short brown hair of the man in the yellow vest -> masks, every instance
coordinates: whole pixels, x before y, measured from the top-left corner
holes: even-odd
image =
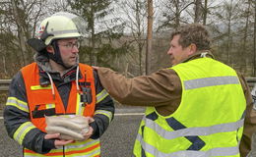
[[[209,32],[200,24],[189,24],[180,26],[177,30],[171,33],[171,40],[175,35],[180,35],[179,44],[182,48],[194,43],[197,46],[197,50],[210,50],[210,38]]]

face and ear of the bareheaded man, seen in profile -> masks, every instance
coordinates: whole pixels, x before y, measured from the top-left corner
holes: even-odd
[[[178,40],[180,35],[174,35],[170,41],[170,47],[167,54],[170,56],[170,63],[172,66],[179,64],[182,60],[188,58],[190,54],[190,46],[182,48]]]

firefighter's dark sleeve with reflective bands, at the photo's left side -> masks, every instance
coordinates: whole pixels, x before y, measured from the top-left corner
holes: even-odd
[[[24,78],[19,72],[11,81],[4,110],[4,125],[10,137],[37,153],[47,153],[54,147],[54,140],[45,140],[45,133],[36,129],[30,119]]]

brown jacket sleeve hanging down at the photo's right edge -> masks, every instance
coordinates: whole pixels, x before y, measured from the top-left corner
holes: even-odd
[[[250,88],[246,83],[245,78],[243,78],[239,73],[237,73],[240,82],[242,84],[243,92],[246,98],[246,113],[244,119],[244,129],[239,145],[241,157],[246,157],[246,155],[251,150],[252,144],[252,134],[256,132],[256,108],[253,108],[252,97]]]

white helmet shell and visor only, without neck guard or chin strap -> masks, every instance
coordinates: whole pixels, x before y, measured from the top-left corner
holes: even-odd
[[[59,12],[41,22],[36,36],[42,39],[45,45],[49,45],[54,39],[84,36],[85,25],[82,18],[71,13]]]

